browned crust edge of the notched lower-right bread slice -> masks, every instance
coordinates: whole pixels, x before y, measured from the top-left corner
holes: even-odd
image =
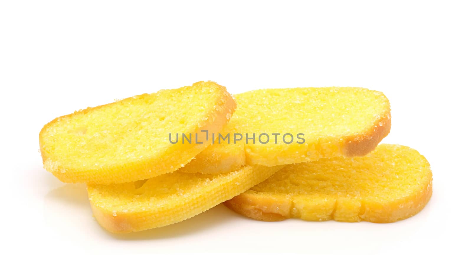
[[[379,145],[380,149],[387,146],[392,145]],[[404,146],[402,146],[401,149],[404,149],[404,151],[413,150]],[[418,178],[421,178],[422,181],[418,183],[419,187],[415,187],[413,190],[405,189],[405,193],[401,197],[379,199],[377,197],[349,197],[340,194],[320,195],[319,193],[311,193],[300,195],[258,192],[250,189],[226,201],[224,204],[233,211],[246,217],[270,222],[295,217],[307,221],[396,222],[420,212],[424,206],[426,206],[432,195],[432,172],[429,163],[421,154],[416,151],[414,152],[417,154],[417,159],[412,159],[412,162],[419,161],[425,165],[419,168],[417,174]],[[373,153],[375,153],[375,151]],[[336,161],[336,159],[333,161]],[[284,170],[279,172],[284,172]],[[359,170],[357,172],[365,171]],[[398,175],[401,176],[401,174]],[[274,174],[274,176],[277,176],[277,173]],[[382,175],[379,174],[379,176]],[[408,179],[412,178],[406,178],[406,180]],[[268,180],[270,180],[270,178]],[[324,180],[327,181],[321,180],[320,184],[332,183],[329,179],[325,178]],[[375,183],[374,181],[365,182],[365,184]],[[277,182],[275,182],[275,184],[277,184]],[[337,183],[337,185],[339,185],[339,183]]]

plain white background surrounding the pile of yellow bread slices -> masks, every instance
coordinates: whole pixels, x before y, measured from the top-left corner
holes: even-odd
[[[8,257],[0,267],[467,269],[470,7],[327,2],[1,1],[1,249]],[[392,106],[384,143],[411,146],[430,161],[429,204],[390,224],[264,223],[220,205],[168,227],[113,235],[93,219],[83,185],[63,184],[42,169],[38,134],[55,117],[200,80],[234,94],[297,86],[384,92]],[[162,254],[143,256],[148,252]]]

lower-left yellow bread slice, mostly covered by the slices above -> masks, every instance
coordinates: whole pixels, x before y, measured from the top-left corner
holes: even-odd
[[[282,167],[245,166],[223,175],[179,171],[149,180],[87,185],[95,219],[114,233],[177,223],[253,187]]]

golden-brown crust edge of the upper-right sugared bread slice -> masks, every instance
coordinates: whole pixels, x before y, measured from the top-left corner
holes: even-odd
[[[258,91],[247,93],[251,92]],[[377,91],[371,92],[379,93]],[[239,96],[244,96],[244,94],[236,94],[236,101],[238,101]],[[267,151],[264,150],[264,146],[260,146],[259,151],[252,151],[251,146],[243,143],[214,144],[196,155],[180,171],[218,174],[237,170],[244,165],[275,166],[310,162],[325,157],[366,155],[375,149],[377,144],[390,133],[390,105],[383,94],[380,97],[383,98],[382,103],[385,103],[385,108],[378,113],[377,119],[360,133],[338,137],[326,136],[318,139],[315,143],[308,143],[310,141],[307,141],[303,145],[292,144],[290,147],[280,147],[279,150]],[[241,111],[251,111],[251,109],[246,110],[244,104],[241,104],[238,106],[235,116]],[[233,118],[228,127],[231,125],[231,130],[239,130],[238,122],[237,118]],[[230,131],[230,133],[234,132]]]

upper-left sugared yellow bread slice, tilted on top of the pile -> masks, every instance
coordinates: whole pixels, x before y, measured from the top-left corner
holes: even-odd
[[[76,111],[42,128],[44,168],[63,182],[89,184],[132,182],[172,172],[210,145],[201,131],[218,133],[235,108],[224,86],[198,82]],[[193,141],[170,142],[182,134],[191,134]]]

